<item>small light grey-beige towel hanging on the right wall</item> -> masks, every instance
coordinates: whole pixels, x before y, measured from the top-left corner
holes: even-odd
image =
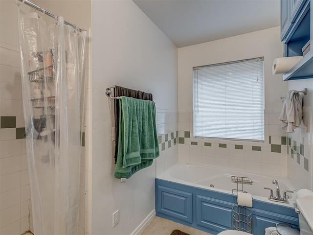
[[[285,95],[283,109],[279,116],[282,128],[287,132],[294,132],[294,129],[300,127],[302,117],[302,97],[297,91],[291,90]]]

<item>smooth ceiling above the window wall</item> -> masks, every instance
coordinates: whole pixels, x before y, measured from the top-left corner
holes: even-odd
[[[133,0],[177,46],[280,25],[280,0]]]

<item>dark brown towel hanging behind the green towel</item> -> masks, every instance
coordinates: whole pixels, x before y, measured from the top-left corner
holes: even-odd
[[[143,100],[152,100],[152,94],[151,93],[145,93],[141,91],[132,90],[125,87],[120,86],[114,86],[114,96],[127,96],[127,97],[133,97],[136,99],[143,99]],[[117,161],[117,152],[118,152],[118,133],[119,133],[119,100],[114,100],[114,106],[115,106],[115,152],[114,152],[114,159],[115,164]]]

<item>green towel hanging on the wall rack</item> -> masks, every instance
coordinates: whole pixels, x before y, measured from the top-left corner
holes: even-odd
[[[130,178],[159,156],[156,106],[151,100],[121,96],[115,178]]]

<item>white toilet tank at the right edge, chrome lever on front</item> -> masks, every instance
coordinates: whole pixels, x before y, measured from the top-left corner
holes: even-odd
[[[313,195],[296,199],[299,209],[300,235],[313,235]]]

